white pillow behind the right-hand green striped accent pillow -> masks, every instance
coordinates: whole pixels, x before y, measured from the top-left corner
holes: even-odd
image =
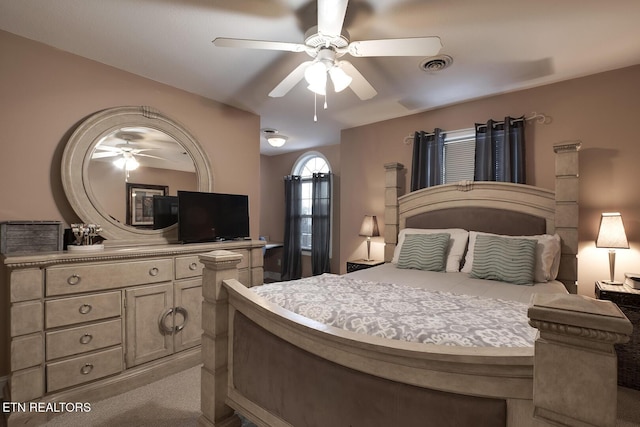
[[[482,233],[479,231],[469,232],[469,248],[464,259],[463,273],[470,273],[473,267],[473,253],[476,244],[476,236],[479,234],[497,236],[497,234]],[[557,234],[540,234],[536,236],[501,236],[512,239],[532,239],[537,240],[536,245],[536,266],[534,270],[534,280],[536,283],[554,280],[558,275],[560,263],[560,236]]]

